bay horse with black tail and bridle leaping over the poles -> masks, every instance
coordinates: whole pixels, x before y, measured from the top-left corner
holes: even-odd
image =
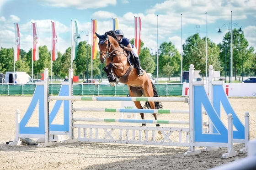
[[[96,32],[95,34],[99,38],[100,61],[101,63],[106,62],[106,67],[103,70],[112,86],[118,82],[127,84],[131,97],[141,97],[142,95],[144,97],[159,97],[155,85],[145,71],[143,71],[144,76],[138,77],[137,68],[128,61],[129,54],[120,47],[115,31],[107,31],[104,35],[99,35]],[[134,104],[138,109],[162,109],[160,102],[145,102],[144,107],[139,101],[134,102]],[[153,113],[153,115],[157,120],[157,114]],[[144,119],[144,113],[140,113],[140,116],[141,119]],[[142,125],[146,126],[146,124]],[[156,126],[160,126],[160,124],[156,124]]]

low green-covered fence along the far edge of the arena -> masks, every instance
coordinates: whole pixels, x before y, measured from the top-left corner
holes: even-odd
[[[36,84],[0,84],[0,95],[26,95],[33,94]],[[59,94],[61,84],[49,84],[49,94]],[[160,96],[182,95],[182,83],[158,83],[155,88]],[[111,85],[101,84],[74,84],[74,95],[93,95],[93,96],[119,96],[128,95],[129,89],[126,84],[112,87]]]

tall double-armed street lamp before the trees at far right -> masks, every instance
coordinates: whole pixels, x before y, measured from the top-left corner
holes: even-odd
[[[242,34],[243,31],[241,29],[241,26],[239,26],[235,23],[234,24],[232,23],[232,11],[231,11],[231,24],[229,22],[229,25],[224,24],[223,26],[225,26],[225,25],[228,26],[229,31],[231,32],[231,36],[229,38],[229,46],[230,46],[230,51],[229,51],[229,57],[230,57],[230,60],[229,60],[229,82],[230,82],[230,76],[231,76],[231,82],[233,82],[232,81],[232,77],[233,77],[233,30],[232,30],[232,26],[234,25],[234,26],[238,26],[240,28],[238,30],[239,34]],[[222,27],[219,28],[219,31],[218,31],[219,34],[222,33],[222,31],[220,30]]]

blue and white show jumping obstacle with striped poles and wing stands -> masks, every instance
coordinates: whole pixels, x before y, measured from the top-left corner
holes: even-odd
[[[36,82],[37,87],[32,98],[32,102],[27,112],[20,120],[20,113],[16,111],[16,138],[9,143],[11,146],[22,144],[20,138],[39,138],[44,143],[38,147],[52,146],[54,137],[68,135],[68,140],[62,143],[76,141],[104,142],[104,143],[127,143],[127,144],[154,144],[167,146],[187,146],[188,151],[185,156],[201,153],[201,149],[196,147],[207,147],[204,150],[212,150],[218,147],[228,148],[228,153],[223,154],[223,158],[229,158],[238,153],[233,148],[233,143],[244,143],[245,148],[240,149],[240,153],[247,152],[249,134],[249,113],[245,113],[245,126],[235,114],[229,100],[222,87],[223,82],[214,81],[213,77],[219,77],[219,72],[214,72],[209,66],[208,94],[202,81],[194,82],[194,78],[200,77],[200,71],[195,71],[193,65],[189,69],[189,100],[187,98],[145,98],[145,97],[87,97],[73,96],[72,77],[73,71],[69,70],[69,82],[62,82],[59,96],[48,96],[48,69],[44,71],[44,82]],[[217,75],[215,75],[217,74]],[[40,84],[41,83],[41,84]],[[51,113],[48,102],[57,100]],[[189,122],[170,120],[139,120],[139,119],[115,119],[115,118],[74,118],[73,112],[120,112],[120,113],[165,113],[170,114],[172,110],[158,109],[123,109],[123,108],[75,108],[73,103],[78,100],[85,101],[158,101],[158,102],[188,102]],[[38,127],[28,127],[27,123],[32,116],[38,103],[39,117]],[[59,108],[63,104],[63,124],[53,124]],[[228,114],[228,128],[220,118],[220,105]],[[202,107],[203,106],[203,107]],[[203,108],[209,118],[209,128],[203,126]],[[181,111],[183,113],[187,111]],[[83,124],[77,124],[83,122]],[[91,124],[88,124],[90,122]],[[98,124],[97,124],[98,122]],[[102,125],[100,122],[111,122],[117,125]],[[121,126],[119,124],[126,124]],[[153,127],[153,126],[132,126],[127,124],[148,123],[148,124],[189,124],[189,128],[180,127]],[[233,125],[235,131],[233,131]],[[74,129],[77,129],[77,139],[74,137]],[[76,131],[75,131],[76,132]],[[163,139],[158,140],[155,132],[162,134]],[[100,137],[99,134],[105,134]],[[172,136],[173,134],[176,136]],[[174,137],[174,138],[173,138]],[[176,138],[176,139],[175,139]],[[178,138],[178,139],[177,139]],[[57,141],[55,139],[55,141]]]

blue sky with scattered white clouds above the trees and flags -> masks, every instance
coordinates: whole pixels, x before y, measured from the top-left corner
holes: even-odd
[[[241,27],[249,46],[256,49],[256,0],[0,0],[0,43],[2,48],[14,46],[18,23],[20,48],[28,52],[32,22],[37,22],[39,46],[51,50],[51,21],[56,21],[57,49],[64,53],[71,46],[72,20],[77,21],[80,41],[91,44],[91,20],[97,20],[97,33],[104,34],[117,18],[124,36],[132,39],[134,16],[141,18],[141,40],[153,53],[170,41],[181,52],[181,44],[197,32],[218,44],[231,21],[232,29]]]

